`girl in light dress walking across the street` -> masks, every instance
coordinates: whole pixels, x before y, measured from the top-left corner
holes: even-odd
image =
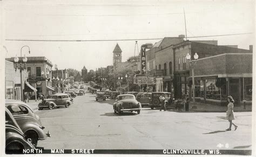
[[[234,112],[233,112],[234,99],[233,99],[232,96],[228,96],[227,97],[227,101],[228,101],[228,105],[227,105],[227,120],[228,120],[228,122],[230,122],[230,127],[228,129],[226,129],[226,131],[231,131],[232,124],[234,125],[235,130],[237,130],[238,126],[235,125],[234,123],[232,123],[232,120],[235,119]]]

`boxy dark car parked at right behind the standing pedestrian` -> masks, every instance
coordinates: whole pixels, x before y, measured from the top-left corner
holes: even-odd
[[[151,109],[158,108],[161,106],[159,99],[160,95],[163,95],[165,97],[165,100],[169,102],[167,103],[167,105],[169,105],[170,102],[172,101],[171,92],[152,92],[152,101],[149,104]]]

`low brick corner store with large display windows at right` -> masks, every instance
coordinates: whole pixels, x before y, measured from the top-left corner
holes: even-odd
[[[199,59],[194,74],[197,102],[227,105],[227,96],[232,96],[234,105],[252,104],[252,54],[221,54]],[[191,86],[190,76],[190,93]]]

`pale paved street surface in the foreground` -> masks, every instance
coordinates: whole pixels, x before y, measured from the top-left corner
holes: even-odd
[[[252,149],[252,112],[235,112],[238,130],[225,131],[225,113],[185,113],[143,108],[140,115],[113,113],[114,100],[95,100],[89,93],[69,108],[39,110],[51,138],[39,147],[93,149]],[[223,144],[221,148],[218,144]],[[228,144],[226,148],[225,144]]]

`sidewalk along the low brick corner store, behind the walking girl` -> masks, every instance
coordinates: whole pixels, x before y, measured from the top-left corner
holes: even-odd
[[[192,106],[197,106],[197,109],[192,109]],[[252,111],[252,105],[246,105],[246,109],[244,109],[244,105],[234,106],[234,112],[250,112]],[[192,103],[189,104],[189,110],[195,112],[226,112],[227,106],[219,106],[219,105],[210,105],[210,104],[202,104],[202,103]]]

